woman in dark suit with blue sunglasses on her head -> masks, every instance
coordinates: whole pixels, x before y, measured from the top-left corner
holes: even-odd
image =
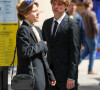
[[[49,69],[45,52],[47,45],[42,40],[42,33],[39,27],[34,26],[39,21],[38,3],[32,0],[23,1],[17,5],[18,19],[23,23],[17,32],[17,74],[30,74],[29,64],[32,60],[35,87],[34,90],[48,90],[49,83],[55,86],[56,81],[52,71]],[[37,40],[35,32],[40,40]]]

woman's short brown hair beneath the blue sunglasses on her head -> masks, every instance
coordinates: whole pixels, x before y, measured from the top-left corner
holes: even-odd
[[[29,14],[32,11],[33,5],[36,5],[37,7],[39,6],[39,4],[37,2],[31,2],[29,5],[26,4],[26,1],[23,1],[20,4],[17,4],[16,8],[17,8],[17,16],[19,20],[24,20],[25,17],[24,15]]]

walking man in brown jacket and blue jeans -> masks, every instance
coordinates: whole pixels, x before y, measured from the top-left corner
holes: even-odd
[[[96,74],[93,71],[93,64],[96,57],[96,46],[97,46],[97,18],[95,12],[92,11],[93,2],[92,0],[84,0],[85,10],[82,13],[82,18],[85,26],[85,38],[86,43],[84,52],[81,55],[80,62],[90,54],[88,74]]]

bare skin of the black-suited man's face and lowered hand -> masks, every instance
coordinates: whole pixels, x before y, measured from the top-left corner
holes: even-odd
[[[56,18],[56,20],[59,19],[61,16],[63,16],[66,8],[67,7],[63,2],[59,2],[59,1],[52,2],[52,11],[54,13],[54,17]],[[74,87],[75,87],[75,80],[67,79],[66,88],[70,90]]]

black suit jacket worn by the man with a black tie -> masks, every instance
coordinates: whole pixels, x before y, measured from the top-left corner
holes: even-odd
[[[42,28],[43,39],[47,41],[48,62],[56,80],[76,80],[78,76],[78,61],[80,58],[80,28],[75,20],[65,15],[60,23],[54,43],[51,38],[53,18],[47,19]]]

